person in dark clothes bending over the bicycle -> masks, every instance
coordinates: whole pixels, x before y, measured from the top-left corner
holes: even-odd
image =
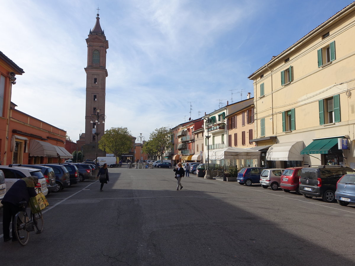
[[[4,234],[4,242],[17,241],[15,235],[14,218],[17,212],[22,209],[17,206],[20,201],[26,201],[28,204],[29,198],[37,195],[35,191],[35,185],[38,183],[38,177],[29,176],[18,179],[9,190],[7,190],[1,203],[4,205],[2,215],[2,232]],[[10,237],[10,223],[12,220],[12,237]]]

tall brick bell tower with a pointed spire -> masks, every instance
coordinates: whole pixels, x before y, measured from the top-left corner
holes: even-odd
[[[100,26],[99,14],[96,16],[96,23],[86,39],[88,56],[86,72],[86,110],[85,110],[85,144],[83,145],[83,153],[85,159],[95,158],[96,141],[99,141],[105,132],[105,124],[100,121],[91,123],[90,115],[97,113],[105,113],[105,89],[106,77],[108,76],[106,69],[106,50],[109,48],[108,40]],[[95,135],[99,132],[99,135]],[[96,138],[98,138],[96,140]],[[106,153],[100,149],[97,150],[97,156],[105,156]]]

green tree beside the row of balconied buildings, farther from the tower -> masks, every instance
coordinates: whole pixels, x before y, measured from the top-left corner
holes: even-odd
[[[149,141],[152,142],[152,146],[157,150],[157,155],[163,160],[163,154],[165,151],[173,147],[171,142],[171,131],[168,127],[161,127],[155,129],[150,137]]]

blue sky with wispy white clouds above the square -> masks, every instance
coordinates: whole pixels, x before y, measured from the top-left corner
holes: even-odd
[[[105,128],[149,138],[253,94],[247,77],[352,1],[1,0],[0,51],[23,68],[17,109],[84,132],[86,41],[99,6]],[[242,92],[242,95],[241,93]],[[222,105],[220,105],[222,102]],[[198,111],[200,111],[200,116]]]

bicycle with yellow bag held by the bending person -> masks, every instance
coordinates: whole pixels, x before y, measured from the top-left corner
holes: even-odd
[[[26,201],[20,201],[17,206],[22,208],[22,211],[17,212],[15,219],[13,220],[12,230],[15,230],[15,235],[18,242],[25,246],[29,240],[29,232],[35,231],[36,234],[40,234],[43,231],[43,215],[42,211],[38,213],[26,212]]]

